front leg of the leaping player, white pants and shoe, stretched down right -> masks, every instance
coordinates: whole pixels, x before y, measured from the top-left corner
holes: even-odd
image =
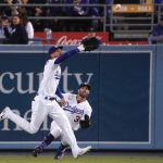
[[[51,109],[49,115],[52,117],[52,120],[55,121],[58,126],[61,128],[65,141],[68,142],[68,145],[72,148],[73,156],[77,158],[78,155],[82,155],[86,153],[88,150],[90,150],[91,147],[87,147],[84,149],[78,148],[74,131],[63,109],[55,101],[53,101],[53,105],[54,109],[53,108]]]

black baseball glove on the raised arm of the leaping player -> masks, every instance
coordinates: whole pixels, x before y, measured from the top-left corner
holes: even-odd
[[[97,39],[96,37],[92,37],[90,39],[86,39],[83,42],[84,47],[85,47],[85,51],[91,51],[91,50],[96,50],[99,48],[100,45],[100,40]]]

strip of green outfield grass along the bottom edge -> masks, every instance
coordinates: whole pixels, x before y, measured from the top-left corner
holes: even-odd
[[[60,161],[52,156],[0,156],[0,163],[163,163],[162,156],[65,156]]]

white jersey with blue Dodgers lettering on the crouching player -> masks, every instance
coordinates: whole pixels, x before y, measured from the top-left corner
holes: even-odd
[[[75,93],[63,93],[67,103],[62,106],[74,130],[79,128],[79,121],[84,120],[85,114],[90,117],[92,112],[89,102],[86,100],[77,103],[76,96]]]

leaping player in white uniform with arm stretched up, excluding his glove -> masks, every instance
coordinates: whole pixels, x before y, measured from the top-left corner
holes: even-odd
[[[32,102],[30,122],[12,112],[9,106],[1,112],[0,121],[9,118],[27,133],[35,134],[40,128],[45,117],[49,115],[62,129],[64,139],[72,148],[73,156],[78,158],[86,153],[91,147],[83,149],[78,148],[71,124],[65,116],[63,109],[54,100],[54,93],[61,78],[60,63],[65,59],[84,51],[85,48],[80,45],[79,47],[61,54],[62,48],[63,47],[51,47],[49,49],[49,54],[52,59],[48,60],[45,65],[43,77],[39,86],[38,96],[36,96]]]

